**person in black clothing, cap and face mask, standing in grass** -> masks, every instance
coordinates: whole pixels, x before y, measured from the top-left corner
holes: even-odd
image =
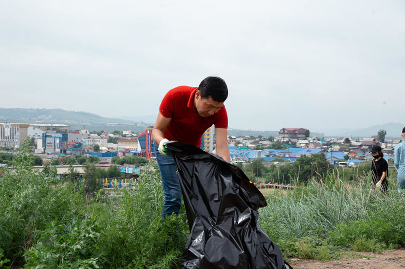
[[[384,154],[382,153],[380,146],[372,146],[370,152],[374,158],[371,162],[372,183],[378,190],[385,194],[388,188],[388,164],[382,158]]]

